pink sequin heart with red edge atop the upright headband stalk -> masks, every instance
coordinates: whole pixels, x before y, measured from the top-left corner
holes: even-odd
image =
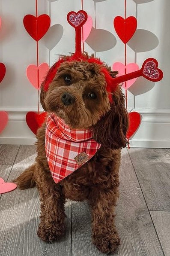
[[[69,12],[67,14],[67,20],[72,27],[79,28],[84,25],[87,20],[87,13],[83,10],[76,12]]]

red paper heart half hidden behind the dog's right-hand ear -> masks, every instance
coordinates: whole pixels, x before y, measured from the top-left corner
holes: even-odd
[[[140,125],[140,114],[137,112],[129,113],[129,128],[126,137],[129,139]]]

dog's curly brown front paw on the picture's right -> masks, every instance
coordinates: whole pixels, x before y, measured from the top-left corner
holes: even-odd
[[[93,235],[92,238],[93,244],[95,244],[102,253],[113,253],[120,245],[118,233],[114,233],[113,235]]]

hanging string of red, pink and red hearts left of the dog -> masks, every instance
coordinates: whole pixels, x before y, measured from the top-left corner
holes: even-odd
[[[27,79],[30,83],[38,90],[38,113],[28,112],[26,115],[26,122],[28,127],[34,134],[37,133],[39,127],[45,121],[47,115],[46,112],[39,113],[39,89],[41,83],[44,80],[46,73],[49,70],[47,63],[42,63],[39,65],[39,44],[38,41],[47,33],[51,19],[49,15],[42,14],[38,16],[38,1],[36,1],[36,16],[31,14],[25,15],[23,19],[24,27],[27,30],[28,34],[36,40],[36,59],[37,64],[30,64],[26,69]]]

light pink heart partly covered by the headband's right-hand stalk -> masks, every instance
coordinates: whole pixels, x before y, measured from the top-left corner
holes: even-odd
[[[123,76],[125,75],[125,67],[126,67],[126,74],[134,72],[139,70],[139,66],[136,63],[129,63],[126,66],[122,62],[115,62],[112,66],[112,70],[114,71],[119,71],[117,76]],[[133,78],[129,81],[126,82],[126,87],[125,87],[125,82],[123,83],[122,87],[124,89],[128,89],[131,87],[131,85],[134,84],[137,78]]]

